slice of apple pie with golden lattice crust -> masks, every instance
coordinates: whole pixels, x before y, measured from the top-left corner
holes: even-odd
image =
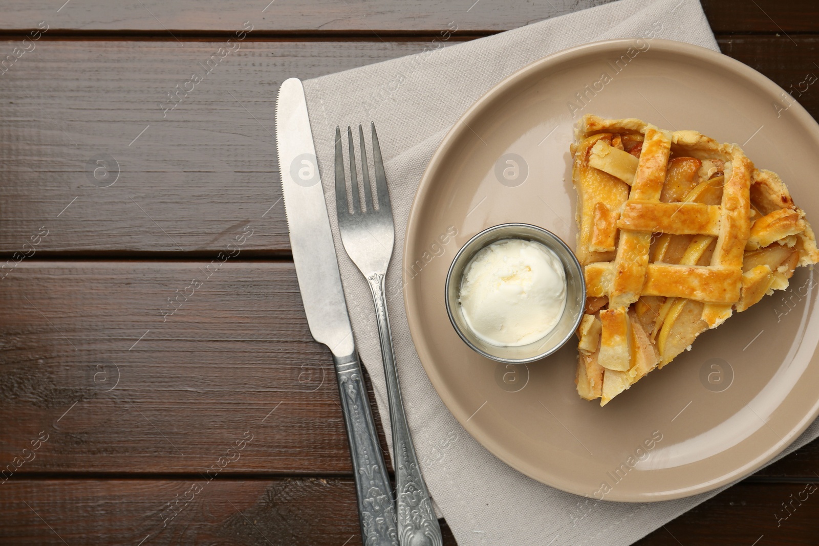
[[[571,150],[587,288],[582,398],[607,404],[819,262],[788,188],[735,144],[586,115]]]

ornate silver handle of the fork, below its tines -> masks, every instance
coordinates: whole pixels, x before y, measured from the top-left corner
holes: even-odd
[[[401,546],[441,546],[441,528],[432,509],[427,485],[423,482],[418,457],[409,435],[409,425],[404,413],[401,389],[398,383],[396,354],[392,350],[390,317],[387,314],[387,295],[384,291],[384,275],[367,277],[373,292],[375,314],[378,318],[378,336],[381,338],[381,356],[387,377],[387,397],[390,404],[392,425],[392,453],[396,467],[396,500],[398,503],[398,537]]]

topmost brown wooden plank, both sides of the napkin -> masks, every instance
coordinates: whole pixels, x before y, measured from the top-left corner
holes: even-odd
[[[260,32],[350,32],[358,34],[419,33],[444,28],[455,21],[469,32],[499,32],[611,0],[551,0],[550,2],[174,2],[144,0],[116,3],[11,0],[5,2],[0,29],[24,31],[41,20],[57,31],[153,31],[170,37],[186,31],[231,32],[251,20]],[[716,32],[807,32],[819,30],[819,10],[811,0],[704,0],[704,10]],[[59,8],[59,11],[57,11]],[[170,30],[169,30],[170,29]]]

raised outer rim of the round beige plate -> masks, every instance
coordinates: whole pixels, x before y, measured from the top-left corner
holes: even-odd
[[[450,148],[450,143],[456,138],[459,138],[461,133],[468,130],[468,124],[473,120],[473,118],[480,115],[483,109],[490,104],[495,97],[504,93],[507,88],[514,86],[519,81],[527,79],[533,74],[541,71],[546,72],[555,65],[561,65],[567,61],[572,61],[573,59],[580,60],[585,56],[611,52],[610,50],[620,51],[624,46],[632,46],[636,39],[638,38],[615,38],[584,43],[578,46],[568,47],[559,52],[554,52],[548,56],[541,57],[540,59],[523,66],[523,68],[515,71],[513,74],[510,74],[505,79],[502,79],[500,83],[495,84],[495,86],[493,86],[489,91],[473,102],[473,104],[469,106],[466,111],[464,111],[464,114],[461,115],[459,119],[455,121],[455,124],[453,124],[447,131],[436,151],[432,154],[432,158],[429,160],[426,169],[424,169],[419,186],[415,191],[412,206],[409,210],[409,217],[407,219],[404,238],[404,249],[402,250],[403,263],[408,263],[407,260],[410,258],[409,248],[414,248],[418,244],[415,234],[419,232],[419,228],[417,228],[417,226],[421,222],[419,219],[421,215],[419,201],[422,200],[423,196],[430,192],[432,187],[432,175],[441,165],[441,161],[443,160],[444,156],[446,156],[446,153]],[[749,65],[745,65],[741,61],[737,61],[730,56],[726,56],[722,52],[713,51],[707,47],[701,47],[691,43],[678,42],[663,38],[652,39],[651,47],[659,52],[686,56],[691,61],[706,62],[709,65],[716,65],[722,70],[730,71],[733,74],[737,74],[742,79],[753,82],[756,86],[758,86],[758,88],[762,88],[763,91],[767,91],[775,95],[787,95],[785,89],[781,88],[764,74],[758,72],[758,70],[754,70]],[[790,97],[790,95],[788,96]],[[810,115],[807,110],[805,110],[804,106],[799,104],[795,98],[791,97],[791,99],[792,104],[790,109],[794,109],[794,115],[796,117],[795,121],[803,125],[805,130],[812,133],[812,138],[819,142],[819,123],[817,123],[817,120],[815,120],[813,116]],[[446,388],[444,381],[442,381],[440,375],[438,375],[436,368],[429,363],[433,359],[429,351],[426,350],[426,345],[423,343],[423,341],[419,341],[423,339],[421,332],[419,332],[421,322],[420,318],[423,315],[417,311],[415,305],[412,303],[411,298],[409,297],[409,287],[412,286],[412,283],[409,282],[406,268],[402,268],[401,277],[405,287],[403,291],[404,307],[407,323],[409,325],[409,334],[412,338],[415,351],[419,356],[424,372],[426,373],[430,383],[432,383],[432,386],[435,388],[437,395],[446,406],[447,410],[453,415],[453,417],[455,417],[459,424],[464,427],[464,430],[467,431],[468,434],[475,440],[477,440],[477,442],[481,444],[484,449],[492,453],[496,458],[499,458],[503,463],[509,465],[509,467],[514,468],[514,470],[521,472],[523,475],[528,476],[529,478],[532,478],[532,480],[538,481],[544,485],[548,485],[568,493],[587,496],[587,491],[585,490],[572,489],[572,487],[566,486],[565,483],[550,483],[543,481],[541,477],[533,476],[532,473],[527,472],[525,469],[526,465],[523,465],[521,462],[515,461],[514,458],[512,458],[512,453],[509,453],[509,451],[505,451],[504,449],[498,449],[498,443],[491,439],[491,435],[486,435],[480,431],[477,426],[470,425],[468,423],[468,416],[465,414],[460,415],[458,412],[453,411],[452,406],[455,405],[454,396],[451,395],[450,390]],[[814,353],[814,355],[815,354],[816,353]],[[718,478],[714,478],[699,485],[691,485],[681,493],[675,493],[672,491],[659,493],[651,492],[644,495],[613,494],[607,496],[606,500],[625,503],[659,502],[663,500],[684,499],[695,494],[702,494],[708,491],[717,490],[723,485],[730,484],[731,482],[737,481],[744,476],[753,474],[753,472],[756,472],[760,467],[763,467],[769,463],[771,459],[776,458],[776,456],[784,451],[790,444],[792,444],[794,440],[796,440],[799,435],[801,435],[808,428],[808,426],[810,426],[811,423],[817,419],[817,417],[819,417],[819,395],[817,395],[817,400],[814,402],[811,411],[802,417],[801,420],[799,420],[799,422],[797,422],[787,434],[783,435],[779,442],[771,444],[771,446],[767,449],[760,450],[760,453],[758,453],[755,458],[752,458],[752,460],[748,463],[738,465],[738,467],[731,472],[726,472]]]

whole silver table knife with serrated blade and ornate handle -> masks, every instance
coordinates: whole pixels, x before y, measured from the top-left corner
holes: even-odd
[[[301,80],[278,88],[276,147],[296,277],[315,341],[333,353],[365,546],[398,546],[395,500],[338,272]]]

